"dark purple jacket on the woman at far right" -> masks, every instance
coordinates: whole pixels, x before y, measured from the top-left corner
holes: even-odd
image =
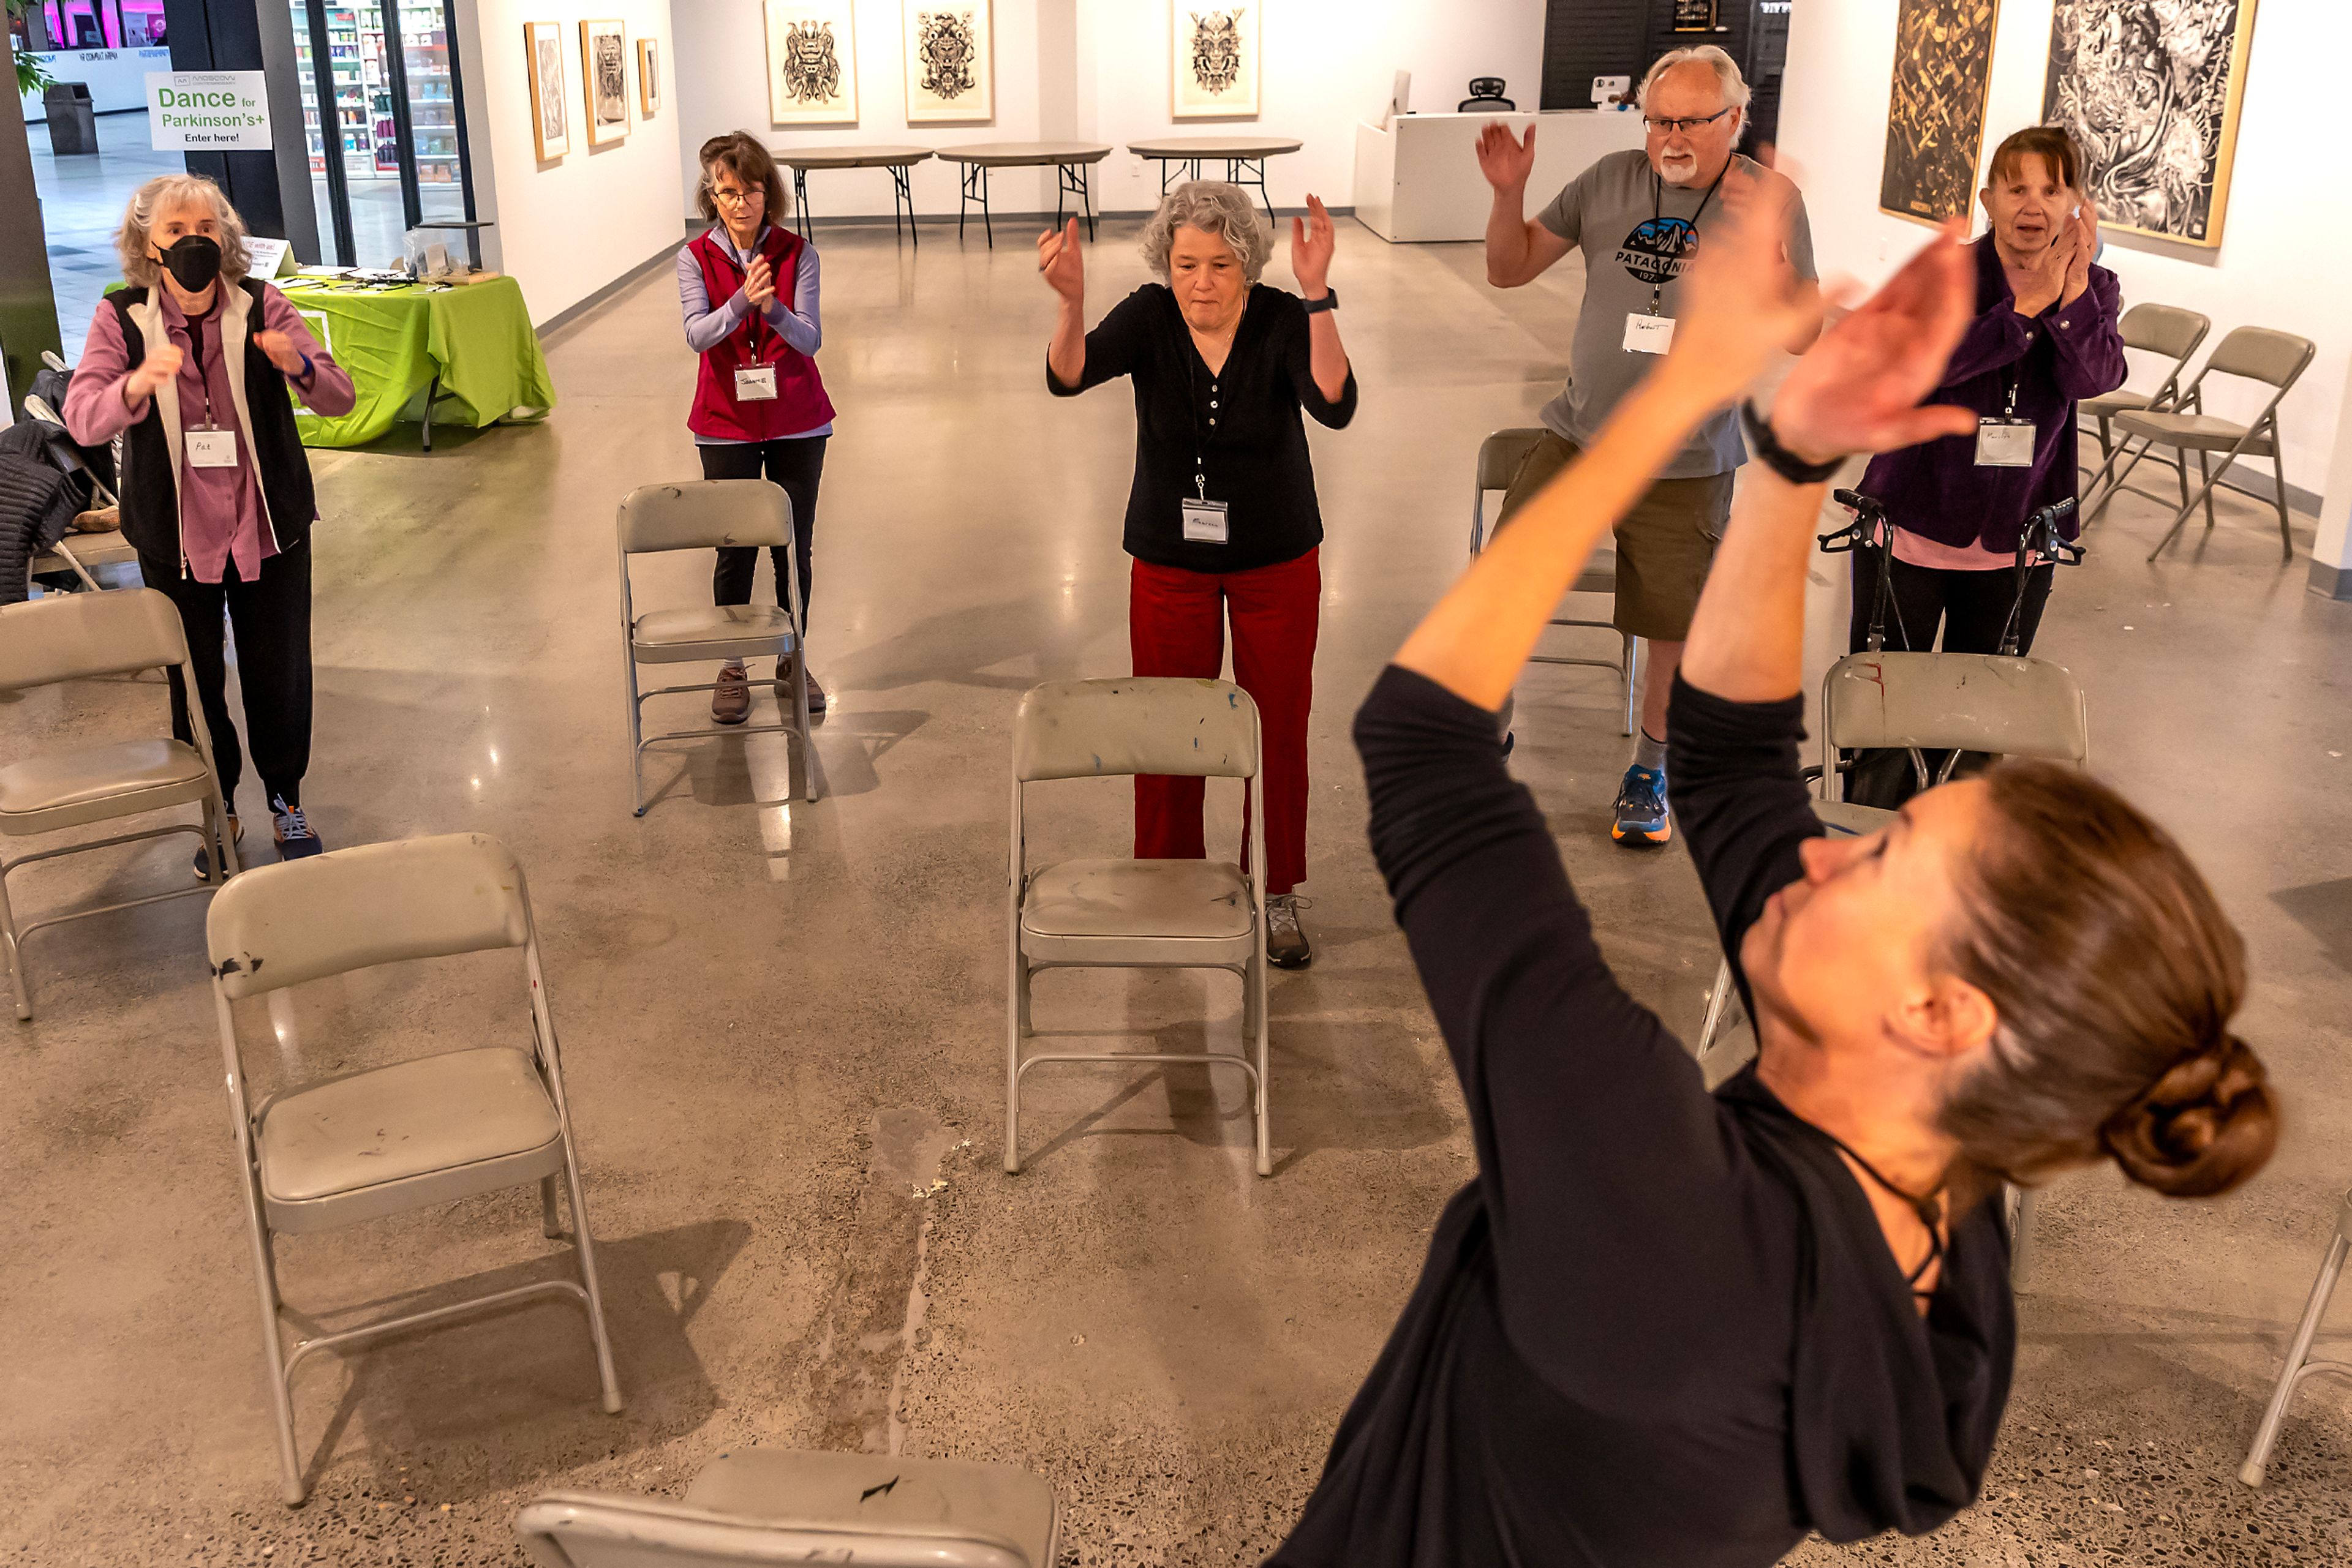
[[[1863,494],[1884,501],[1898,529],[1959,550],[1983,545],[2013,555],[2025,520],[2074,494],[2074,404],[2124,386],[2131,369],[2117,329],[2124,284],[2093,266],[2091,287],[2074,303],[2027,317],[2018,315],[1992,235],[1973,249],[1978,315],[1952,350],[1943,386],[1924,402],[2034,421],[2034,463],[1978,468],[1976,437],[1947,435],[1872,458]],[[2079,524],[2070,520],[2065,536],[2074,538]]]

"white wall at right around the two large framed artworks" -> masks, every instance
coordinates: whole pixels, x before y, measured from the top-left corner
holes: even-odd
[[[1999,9],[1985,162],[2002,136],[2042,120],[2051,9],[2051,0],[2004,0]],[[2206,350],[2244,324],[2277,327],[2319,346],[2281,409],[2286,482],[2307,494],[2326,482],[2352,364],[2352,266],[2345,263],[2352,202],[2340,200],[2326,176],[2340,158],[2328,106],[2345,92],[2347,12],[2345,0],[2260,0],[2220,247],[2110,230],[2100,259],[2122,280],[2126,308],[2157,301],[2213,317]],[[1917,223],[1879,212],[1893,38],[1893,0],[1797,0],[1790,14],[1780,155],[1804,186],[1823,273],[1844,270],[1865,282],[1884,277],[1926,237]],[[1976,214],[1980,230],[1983,209]],[[2154,376],[2140,364],[2133,386],[2150,381]],[[2251,418],[2267,395],[2234,378],[2216,378],[2211,390],[2206,407],[2232,418]],[[2256,463],[2270,468],[2263,458]],[[2157,470],[2154,482],[2161,489],[2166,475]]]

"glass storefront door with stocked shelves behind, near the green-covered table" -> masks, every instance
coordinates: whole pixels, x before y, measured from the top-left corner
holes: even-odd
[[[329,259],[341,266],[390,266],[400,261],[402,240],[416,223],[470,219],[463,94],[447,5],[289,5],[294,54],[303,71],[310,193],[318,202],[320,244]],[[452,249],[461,249],[459,235],[449,240]]]

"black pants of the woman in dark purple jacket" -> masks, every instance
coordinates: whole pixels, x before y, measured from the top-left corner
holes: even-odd
[[[1945,654],[1999,654],[2009,616],[2018,616],[2018,651],[2032,654],[2034,632],[2042,628],[2042,609],[2051,597],[2053,562],[2042,562],[2025,574],[2025,599],[2018,602],[2016,571],[1952,571],[1945,567],[1912,567],[1896,557],[1889,576],[1886,646],[1907,651],[1933,651],[1936,632],[1943,632]],[[1849,649],[1860,654],[1870,646],[1870,614],[1879,595],[1879,552],[1863,548],[1853,552],[1853,621],[1849,625]],[[1865,750],[1846,752],[1853,771],[1846,773],[1846,799],[1860,806],[1893,811],[1919,792],[1919,776],[1910,752]],[[1924,752],[1929,776],[1943,766],[1947,752]],[[1976,771],[1983,762],[1964,755],[1952,769],[1955,776]]]

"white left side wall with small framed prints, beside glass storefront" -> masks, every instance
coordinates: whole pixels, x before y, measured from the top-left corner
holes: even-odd
[[[579,24],[628,26],[628,136],[588,146]],[[541,162],[532,136],[532,82],[522,31],[555,21],[564,31],[564,94],[572,150]],[[637,40],[661,40],[661,110],[637,110]],[[548,322],[597,289],[680,242],[677,49],[670,0],[468,0],[459,45],[480,61],[468,75],[466,127],[475,148],[475,212],[494,219],[485,261],[522,284],[534,322]],[[480,87],[480,92],[475,92]],[[482,155],[489,148],[489,158]]]

